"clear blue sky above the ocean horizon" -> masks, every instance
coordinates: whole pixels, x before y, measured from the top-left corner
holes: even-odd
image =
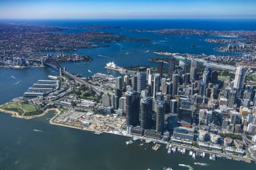
[[[256,18],[256,0],[0,0],[0,18]]]

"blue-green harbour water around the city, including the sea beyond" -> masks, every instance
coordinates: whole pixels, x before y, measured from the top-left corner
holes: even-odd
[[[3,22],[3,21],[2,21]],[[6,22],[6,21],[5,21]],[[13,21],[14,22],[14,21]],[[78,54],[86,54],[93,57],[93,61],[87,64],[84,62],[63,62],[61,65],[67,67],[70,73],[81,73],[83,76],[93,73],[106,73],[104,66],[114,61],[118,66],[150,65],[156,66],[154,62],[148,61],[151,57],[164,57],[154,54],[155,50],[168,50],[170,52],[195,53],[195,54],[220,54],[214,50],[214,44],[204,41],[205,37],[197,36],[160,36],[155,33],[127,32],[126,29],[134,28],[205,28],[206,24],[201,21],[144,21],[147,24],[135,22],[131,25],[129,21],[29,21],[28,23],[44,25],[81,25],[101,24],[118,25],[122,28],[115,28],[104,31],[121,33],[129,37],[150,38],[152,42],[112,42],[109,48],[79,49]],[[155,22],[155,23],[154,23]],[[219,29],[255,29],[254,24],[246,22],[214,22],[205,21],[209,24],[215,23],[214,28]],[[23,22],[24,23],[24,22]],[[137,25],[136,25],[137,23]],[[176,23],[176,24],[175,24]],[[210,24],[210,25],[211,25]],[[219,26],[219,27],[218,27]],[[230,28],[229,28],[230,27]],[[213,29],[213,28],[208,28]],[[69,30],[76,32],[81,30]],[[68,31],[67,31],[68,32]],[[197,44],[197,47],[191,47]],[[126,54],[130,53],[130,54]],[[221,53],[226,55],[225,53]],[[167,57],[167,56],[166,56]],[[38,69],[1,69],[0,68],[0,104],[21,96],[38,79],[46,79],[48,75],[57,75],[55,70],[45,68]],[[110,71],[114,76],[115,71]],[[12,77],[14,76],[14,78]],[[21,83],[16,83],[20,82]],[[53,113],[34,120],[20,120],[9,114],[0,114],[0,169],[186,169],[178,164],[191,165],[194,169],[255,169],[255,164],[237,162],[228,159],[217,158],[215,162],[206,159],[193,160],[191,156],[167,154],[165,147],[158,151],[151,149],[152,146],[139,146],[137,142],[127,146],[129,139],[117,135],[101,134],[94,135],[85,131],[69,129],[48,123]],[[208,163],[209,166],[196,166],[194,162]]]

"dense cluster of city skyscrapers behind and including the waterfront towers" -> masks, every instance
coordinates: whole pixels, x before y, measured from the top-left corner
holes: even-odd
[[[157,71],[138,69],[136,75],[116,78],[112,104],[118,113],[126,115],[129,133],[159,138],[165,133],[184,137],[195,126],[201,129],[242,133],[244,128],[256,133],[256,118],[251,106],[256,106],[256,86],[245,86],[245,67],[237,67],[234,80],[218,79],[218,72],[198,63],[169,58],[157,63]],[[189,72],[189,73],[188,73]],[[249,118],[250,117],[250,118]],[[250,119],[250,120],[249,120]],[[181,129],[177,129],[177,128]]]

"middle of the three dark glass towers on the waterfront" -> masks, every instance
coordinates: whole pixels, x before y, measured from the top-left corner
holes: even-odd
[[[150,129],[152,121],[152,98],[141,99],[141,128]]]

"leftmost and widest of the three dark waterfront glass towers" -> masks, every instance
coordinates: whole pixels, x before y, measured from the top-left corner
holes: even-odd
[[[126,124],[127,126],[137,126],[139,125],[139,92],[137,91],[127,91],[126,95]]]

